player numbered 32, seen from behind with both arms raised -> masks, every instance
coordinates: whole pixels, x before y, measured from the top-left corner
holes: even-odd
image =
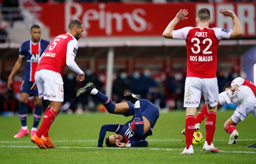
[[[187,47],[187,78],[184,94],[184,107],[187,108],[185,122],[186,147],[180,154],[194,154],[192,139],[195,131],[196,108],[199,106],[201,94],[204,96],[208,110],[203,150],[218,152],[218,149],[212,144],[219,94],[216,78],[218,45],[221,39],[232,39],[241,36],[243,33],[234,12],[222,8],[219,12],[232,18],[233,30],[209,28],[211,23],[210,11],[207,8],[202,8],[197,13],[196,23],[198,27],[184,27],[174,30],[180,20],[188,19],[186,17],[188,11],[181,9],[163,33],[165,38],[185,40]]]

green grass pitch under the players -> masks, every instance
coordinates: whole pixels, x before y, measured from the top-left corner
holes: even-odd
[[[20,128],[20,119],[0,116],[0,163],[36,164],[82,164],[82,163],[254,163],[256,148],[246,148],[256,142],[256,121],[252,114],[237,125],[239,138],[237,144],[228,145],[229,134],[223,130],[224,122],[233,111],[217,112],[217,124],[213,143],[218,153],[203,152],[203,144],[194,145],[195,154],[180,155],[185,147],[185,136],[181,130],[185,126],[185,111],[160,113],[149,136],[146,148],[97,148],[100,127],[103,124],[125,123],[131,117],[108,113],[89,113],[82,115],[60,114],[49,131],[56,149],[39,149],[30,142],[30,137],[15,139]],[[31,129],[33,116],[27,118]],[[42,121],[42,119],[41,119]],[[199,130],[205,138],[204,122]],[[107,136],[113,133],[108,132]],[[104,144],[105,146],[105,144]]]

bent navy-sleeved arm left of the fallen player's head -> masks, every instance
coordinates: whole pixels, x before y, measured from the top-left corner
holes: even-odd
[[[103,125],[100,129],[100,135],[99,135],[99,140],[98,140],[98,147],[103,147],[103,141],[106,135],[107,131],[112,131],[116,132],[118,130],[119,124],[108,124],[108,125]]]

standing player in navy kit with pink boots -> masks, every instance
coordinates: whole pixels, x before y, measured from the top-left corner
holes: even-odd
[[[14,138],[20,138],[24,135],[28,135],[28,126],[27,126],[27,115],[28,115],[28,98],[29,96],[34,96],[35,112],[34,112],[34,124],[30,131],[30,136],[34,136],[37,131],[37,126],[40,121],[43,108],[42,100],[38,98],[37,90],[30,90],[32,85],[35,82],[34,75],[36,73],[36,67],[38,65],[38,60],[49,42],[41,39],[41,29],[38,25],[33,25],[30,28],[31,39],[25,41],[20,46],[20,55],[16,61],[11,74],[8,78],[7,87],[12,89],[12,78],[20,69],[22,60],[25,58],[25,69],[23,73],[23,80],[20,87],[20,121],[21,129]]]

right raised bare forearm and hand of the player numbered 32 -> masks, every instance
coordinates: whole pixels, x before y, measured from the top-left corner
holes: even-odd
[[[232,18],[234,27],[233,27],[233,30],[230,34],[230,39],[233,39],[233,38],[236,38],[236,37],[239,37],[239,36],[243,35],[243,31],[242,31],[240,21],[238,20],[236,14],[234,12],[232,12],[230,10],[227,10],[226,8],[224,8],[224,9],[220,8],[219,12],[224,16]]]

